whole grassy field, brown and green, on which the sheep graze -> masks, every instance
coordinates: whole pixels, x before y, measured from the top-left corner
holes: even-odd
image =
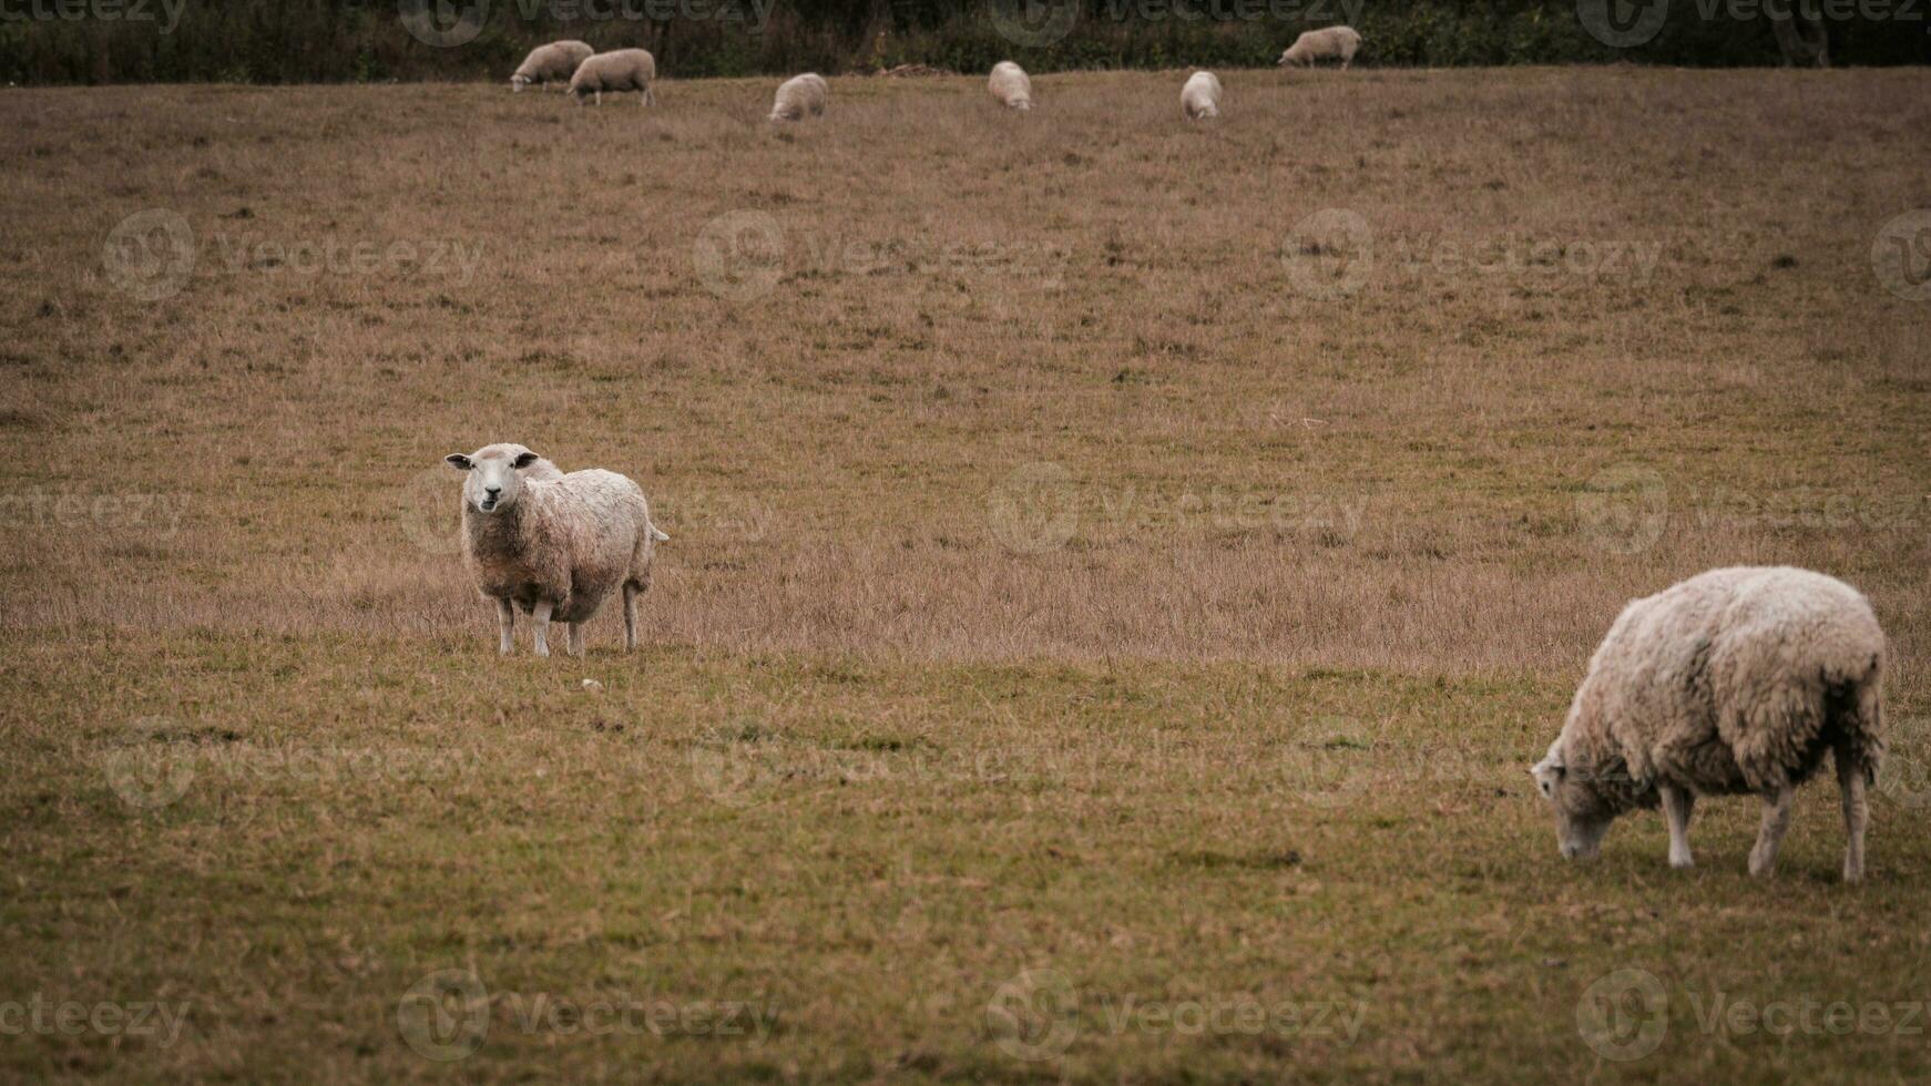
[[[1182,75],[0,95],[0,1074],[1931,1072],[1931,81]],[[643,650],[496,658],[494,440]],[[1865,885],[1556,856],[1730,563],[1892,638]]]

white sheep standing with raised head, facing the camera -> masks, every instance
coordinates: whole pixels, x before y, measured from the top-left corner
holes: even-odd
[[[463,565],[496,600],[498,652],[516,650],[516,608],[535,619],[535,652],[550,654],[550,619],[570,623],[583,656],[583,623],[622,586],[624,650],[637,648],[637,596],[651,556],[670,540],[651,523],[643,490],[602,469],[564,475],[525,446],[483,446],[444,461],[463,478]]]

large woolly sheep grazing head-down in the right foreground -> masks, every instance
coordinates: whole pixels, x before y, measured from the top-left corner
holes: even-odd
[[[1529,774],[1556,843],[1591,858],[1610,820],[1661,801],[1670,866],[1690,866],[1699,795],[1757,793],[1749,874],[1767,876],[1790,799],[1831,750],[1844,801],[1844,882],[1863,878],[1863,789],[1877,783],[1885,635],[1856,588],[1792,567],[1699,573],[1622,610],[1562,733]]]

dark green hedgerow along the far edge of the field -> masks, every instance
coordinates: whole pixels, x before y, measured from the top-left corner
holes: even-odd
[[[1593,37],[1580,12],[1599,0],[1033,0],[1066,15],[1050,44],[1000,33],[1000,6],[1025,0],[454,0],[473,35],[434,46],[411,37],[413,0],[73,0],[19,4],[0,19],[0,79],[42,83],[334,83],[496,79],[531,46],[577,37],[643,46],[670,77],[877,71],[925,64],[985,71],[1077,68],[1259,68],[1303,29],[1352,23],[1365,66],[1668,64],[1767,66],[1782,52],[1765,8],[1732,0],[1670,4],[1639,44]],[[1798,2],[1798,0],[1792,0]],[[1072,12],[1068,6],[1077,6]],[[454,14],[454,15],[452,15]],[[666,17],[668,15],[668,17]],[[1829,17],[1838,66],[1931,60],[1925,14],[1854,6]]]

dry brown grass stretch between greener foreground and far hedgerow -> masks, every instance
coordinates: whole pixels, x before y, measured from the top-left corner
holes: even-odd
[[[33,455],[4,486],[154,494],[180,530],[14,517],[6,621],[483,644],[458,563],[409,540],[454,503],[436,459],[502,438],[643,480],[670,642],[1574,665],[1632,594],[1794,561],[1863,584],[1916,656],[1931,339],[1869,251],[1931,203],[1923,75],[1230,73],[1218,125],[1180,123],[1176,87],[1047,77],[1018,118],[975,79],[848,79],[782,131],[759,81],[655,112],[8,95],[4,409]],[[156,206],[199,262],[141,303],[100,251]],[[1282,258],[1323,208],[1373,230],[1336,301]],[[693,262],[734,210],[782,230],[757,301]],[[228,264],[398,239],[479,264]],[[1537,243],[1655,266],[1456,264]],[[1016,556],[989,507],[1035,461],[1077,525]],[[1620,556],[1578,492],[1632,465],[1672,515]],[[1834,515],[1780,515],[1805,509]]]

